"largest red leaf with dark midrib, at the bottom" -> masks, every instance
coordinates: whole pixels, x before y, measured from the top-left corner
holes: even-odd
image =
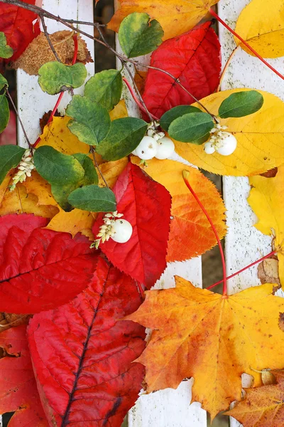
[[[35,315],[28,341],[50,426],[120,427],[141,389],[140,325],[116,320],[141,305],[136,283],[99,259],[97,279],[69,304]]]

